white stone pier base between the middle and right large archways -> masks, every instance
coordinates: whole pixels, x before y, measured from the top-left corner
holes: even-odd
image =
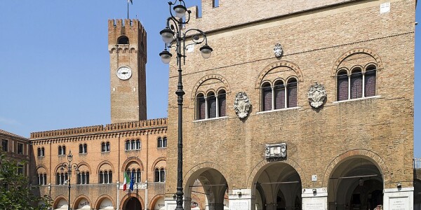
[[[302,189],[302,210],[327,210],[328,190],[326,188]]]

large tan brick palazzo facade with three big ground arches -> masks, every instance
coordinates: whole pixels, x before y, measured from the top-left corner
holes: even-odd
[[[199,179],[208,183],[214,209],[222,208],[227,195],[229,209],[394,209],[399,202],[412,208],[415,1],[220,0],[213,7],[203,0],[201,18],[194,18],[197,8],[190,9],[186,29],[206,31],[214,51],[203,59],[195,49],[182,66],[186,201]],[[274,55],[276,43],[283,47],[281,57]],[[177,69],[174,59],[170,96]],[[341,73],[350,95],[345,100],[338,95]],[[364,82],[375,89],[361,90]],[[308,99],[314,83],[327,93],[317,109]],[[277,88],[296,102],[265,110],[265,99],[277,97]],[[234,111],[239,92],[251,103],[243,119]],[[214,95],[226,98],[226,115],[202,118],[201,103],[212,112]],[[168,100],[171,195],[178,109],[176,97]],[[267,161],[266,144],[282,143],[286,158]],[[175,205],[170,197],[167,204]]]

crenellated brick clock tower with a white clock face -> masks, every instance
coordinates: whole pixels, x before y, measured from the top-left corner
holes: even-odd
[[[108,20],[111,123],[146,120],[146,31],[139,20]]]

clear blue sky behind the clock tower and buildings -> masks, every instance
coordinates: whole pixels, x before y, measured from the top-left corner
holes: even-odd
[[[130,18],[138,18],[148,33],[148,118],[167,117],[168,65],[158,55],[167,2],[133,0],[130,8]],[[187,0],[187,6],[199,3]],[[110,123],[107,20],[127,17],[126,0],[2,0],[0,5],[0,129],[29,137]],[[415,69],[421,65],[420,27]],[[420,77],[415,71],[414,142],[421,158]]]

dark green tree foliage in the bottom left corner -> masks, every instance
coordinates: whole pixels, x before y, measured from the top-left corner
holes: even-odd
[[[48,197],[33,195],[24,174],[18,174],[18,165],[24,162],[9,160],[0,153],[0,210],[48,209]],[[43,205],[37,207],[40,202]]]

